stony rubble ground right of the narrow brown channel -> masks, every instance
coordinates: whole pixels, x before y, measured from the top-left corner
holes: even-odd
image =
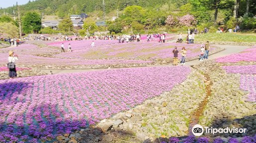
[[[247,62],[246,64],[253,63]],[[223,133],[222,137],[255,135],[256,104],[248,102],[247,92],[240,89],[240,74],[226,74],[225,70],[221,68],[223,65],[245,65],[245,62],[223,64],[207,61],[194,66],[201,72],[209,74],[213,83],[211,86],[212,95],[199,124],[215,128],[237,127],[247,129],[246,134]],[[205,135],[220,136],[220,134]]]

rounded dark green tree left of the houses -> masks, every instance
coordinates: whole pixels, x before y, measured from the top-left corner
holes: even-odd
[[[41,17],[35,12],[28,12],[22,19],[25,33],[38,33],[41,29]]]

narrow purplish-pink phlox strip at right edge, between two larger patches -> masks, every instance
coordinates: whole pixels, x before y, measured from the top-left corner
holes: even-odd
[[[228,74],[256,74],[256,65],[222,66]]]

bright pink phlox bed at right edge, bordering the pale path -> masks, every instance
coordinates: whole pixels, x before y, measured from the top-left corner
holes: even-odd
[[[255,53],[256,53],[256,46],[253,46],[253,48],[246,49],[241,53],[231,54],[229,56],[217,58],[216,61],[217,62],[231,62],[231,63],[236,63],[236,62],[240,62],[240,61],[245,61],[245,62],[256,61]]]

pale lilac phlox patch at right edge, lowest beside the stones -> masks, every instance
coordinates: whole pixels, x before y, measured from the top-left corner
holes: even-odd
[[[240,88],[249,91],[248,101],[256,103],[256,76],[255,75],[241,75]]]

